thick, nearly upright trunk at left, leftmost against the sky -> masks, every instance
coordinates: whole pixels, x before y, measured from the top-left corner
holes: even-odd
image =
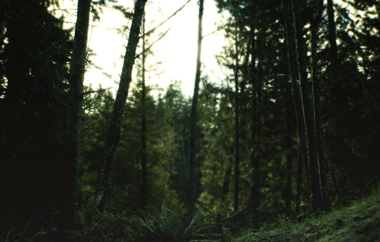
[[[64,141],[59,225],[71,228],[75,219],[78,187],[79,150],[81,140],[84,69],[87,56],[87,36],[91,0],[78,1],[73,54],[71,57],[67,127]]]

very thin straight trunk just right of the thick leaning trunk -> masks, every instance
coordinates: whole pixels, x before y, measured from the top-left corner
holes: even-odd
[[[141,71],[141,206],[145,207],[147,203],[147,170],[146,170],[146,119],[145,119],[145,16],[142,19],[142,71]]]

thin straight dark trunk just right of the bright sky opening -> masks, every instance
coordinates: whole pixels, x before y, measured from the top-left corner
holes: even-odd
[[[235,189],[234,189],[234,211],[239,209],[239,53],[237,49],[237,23],[235,23]]]

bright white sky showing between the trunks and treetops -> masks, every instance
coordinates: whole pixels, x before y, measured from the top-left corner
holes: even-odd
[[[75,22],[77,2],[77,0],[62,0],[60,8],[68,10],[65,12],[57,11],[57,14],[63,13],[67,22]],[[160,24],[184,5],[185,2],[187,0],[149,0],[146,5],[146,31]],[[126,4],[126,7],[133,8],[133,3],[133,0],[119,0],[118,4]],[[152,47],[154,56],[147,57],[147,67],[162,61],[156,72],[147,73],[147,85],[158,84],[166,89],[171,80],[181,80],[184,94],[193,94],[198,9],[197,0],[190,1],[182,11],[158,28],[156,33],[149,38],[149,41],[153,42],[160,33],[171,28],[168,34]],[[222,21],[223,18],[217,13],[214,0],[205,0],[203,35],[215,31]],[[112,87],[114,91],[117,90],[115,82],[120,80],[119,74],[123,63],[121,56],[125,54],[128,33],[126,32],[122,36],[116,29],[122,28],[122,25],[130,26],[130,24],[131,21],[128,22],[122,16],[122,13],[110,8],[103,8],[100,22],[93,23],[90,21],[90,25],[97,26],[90,26],[89,28],[88,45],[97,54],[97,56],[91,57],[91,60],[95,65],[103,68],[103,71],[96,68],[88,70],[85,75],[85,85],[92,83],[93,88],[96,89],[100,83],[103,88]],[[73,24],[68,23],[65,28],[71,26]],[[225,45],[223,31],[218,31],[203,39],[201,54],[202,75],[208,74],[211,79],[215,80],[223,78],[224,74],[222,74],[215,60],[215,55],[222,51],[223,45]],[[141,50],[137,50],[138,53],[139,51]],[[136,71],[136,68],[134,69]],[[111,79],[103,75],[102,72],[111,74]],[[160,72],[163,73],[159,76],[155,75],[155,73]],[[132,81],[135,82],[135,80],[136,74],[133,74]],[[133,88],[133,84],[131,88]]]

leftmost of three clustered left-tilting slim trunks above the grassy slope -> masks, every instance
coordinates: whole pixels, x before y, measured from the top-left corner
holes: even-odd
[[[291,80],[291,87],[293,91],[293,100],[294,100],[294,109],[296,110],[296,120],[297,120],[297,131],[298,131],[298,137],[299,137],[299,151],[300,152],[300,159],[302,160],[302,163],[304,164],[305,168],[305,174],[306,174],[306,182],[307,182],[307,190],[308,195],[310,196],[310,178],[309,178],[309,156],[307,154],[307,146],[306,146],[306,133],[305,133],[305,126],[304,126],[304,118],[303,118],[303,110],[302,110],[302,100],[299,90],[299,85],[297,83],[297,75],[298,70],[296,66],[296,47],[294,42],[294,28],[293,27],[293,21],[291,19],[291,11],[290,11],[290,0],[283,0],[283,9],[284,9],[284,15],[285,15],[285,35],[286,35],[286,41],[288,46],[288,61],[289,61],[289,72],[290,72],[290,80]]]

